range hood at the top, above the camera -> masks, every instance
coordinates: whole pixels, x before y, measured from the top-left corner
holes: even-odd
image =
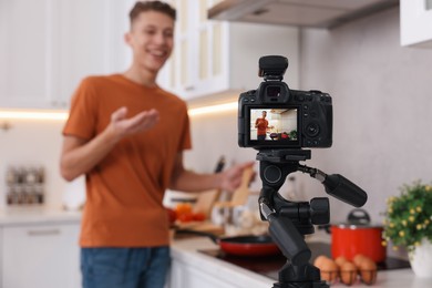
[[[399,0],[224,0],[208,18],[331,29],[397,6]]]

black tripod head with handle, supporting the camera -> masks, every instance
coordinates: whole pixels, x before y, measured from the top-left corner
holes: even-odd
[[[308,173],[319,179],[326,192],[356,207],[362,206],[367,194],[343,176],[327,175],[317,168],[300,165],[310,160],[308,150],[261,150],[257,154],[260,163],[263,188],[259,195],[259,209],[263,220],[269,222],[269,234],[287,258],[279,270],[279,281],[272,288],[327,288],[320,270],[309,263],[311,251],[304,235],[313,234],[313,224],[328,224],[329,200],[316,197],[308,202],[289,202],[278,191],[286,177],[297,171]]]

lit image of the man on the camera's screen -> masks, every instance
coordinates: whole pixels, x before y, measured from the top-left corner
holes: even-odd
[[[294,142],[297,109],[250,109],[250,141]]]

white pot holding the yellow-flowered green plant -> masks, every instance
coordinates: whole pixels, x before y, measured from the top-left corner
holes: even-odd
[[[432,244],[426,238],[422,239],[420,246],[408,253],[411,268],[415,276],[432,278]]]

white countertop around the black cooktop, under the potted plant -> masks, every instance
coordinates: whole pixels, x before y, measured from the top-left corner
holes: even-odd
[[[200,269],[208,275],[213,275],[214,277],[220,277],[223,275],[224,279],[229,279],[229,281],[233,282],[233,287],[272,287],[272,284],[275,282],[274,279],[199,253],[199,250],[217,248],[217,245],[204,237],[176,239],[172,243],[172,257],[179,259],[196,269]],[[348,286],[343,284],[332,284],[331,287]],[[374,285],[368,286],[357,282],[351,287],[425,288],[432,287],[432,278],[418,278],[410,268],[380,270],[377,275],[377,282]]]

